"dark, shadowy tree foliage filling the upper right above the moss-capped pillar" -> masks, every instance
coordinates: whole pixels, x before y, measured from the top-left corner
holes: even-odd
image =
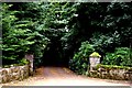
[[[75,48],[72,51],[75,52],[82,41],[89,41],[96,51],[103,54],[113,52],[118,46],[129,47],[132,35],[130,8],[131,3],[124,2],[79,3],[78,16],[72,19],[73,25],[69,24],[67,47]]]

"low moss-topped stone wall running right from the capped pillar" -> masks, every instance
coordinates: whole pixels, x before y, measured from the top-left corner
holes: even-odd
[[[89,72],[90,77],[132,81],[132,67],[98,65]]]

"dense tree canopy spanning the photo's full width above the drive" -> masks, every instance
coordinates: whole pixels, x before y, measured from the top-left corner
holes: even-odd
[[[2,3],[2,59],[33,53],[37,63],[68,65],[86,41],[103,57],[131,48],[131,25],[132,3]]]

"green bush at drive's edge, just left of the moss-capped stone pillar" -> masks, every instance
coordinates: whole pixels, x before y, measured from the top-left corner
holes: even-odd
[[[69,67],[77,74],[86,74],[88,69],[89,55],[95,51],[89,42],[82,42],[79,52],[69,62]]]

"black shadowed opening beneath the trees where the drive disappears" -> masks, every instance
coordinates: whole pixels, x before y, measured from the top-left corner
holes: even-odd
[[[67,66],[68,61],[66,62],[62,58],[63,51],[61,48],[62,43],[58,38],[53,37],[51,44],[47,45],[43,54],[43,65],[44,66]]]

